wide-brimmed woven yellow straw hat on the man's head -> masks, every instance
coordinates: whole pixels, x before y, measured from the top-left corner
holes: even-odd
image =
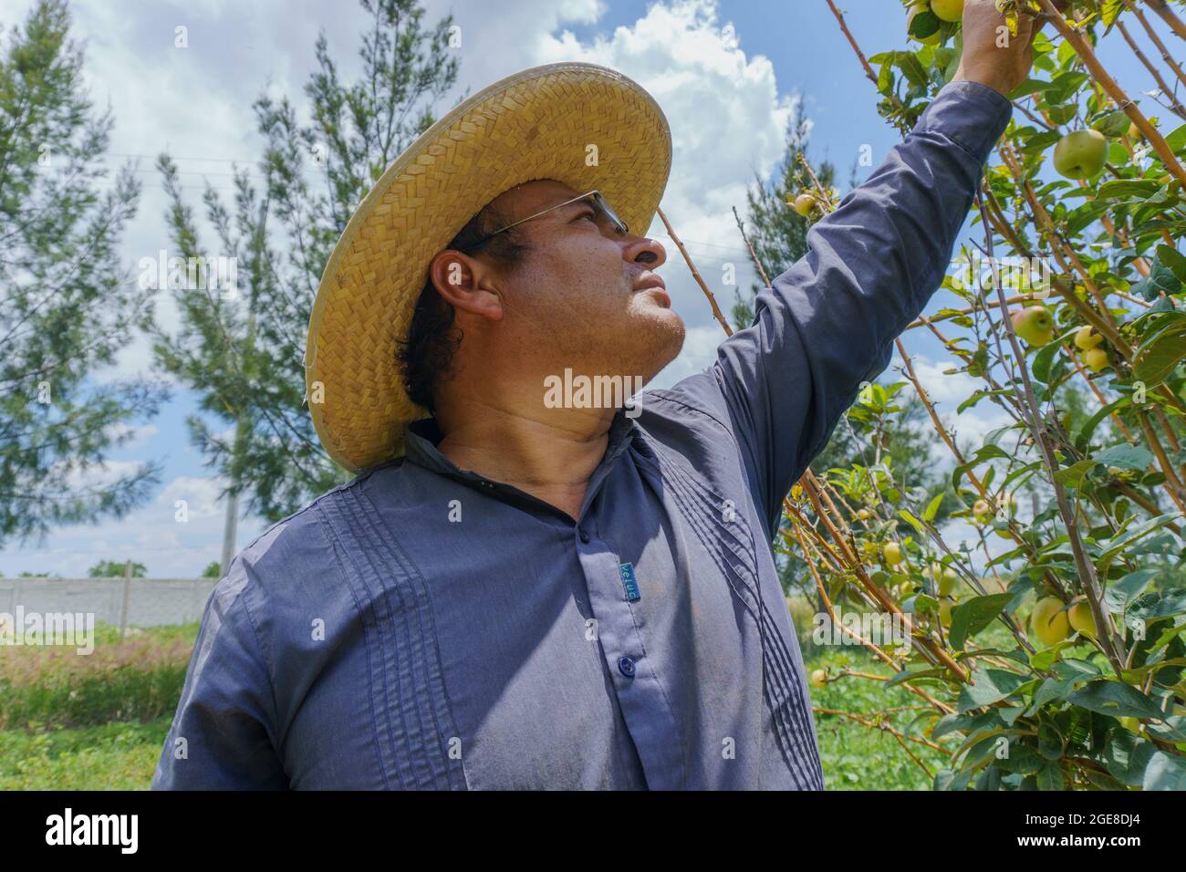
[[[604,66],[560,63],[509,76],[429,127],[383,173],[334,246],[313,301],[305,387],[321,445],[351,471],[403,453],[412,402],[397,339],[428,265],[490,201],[555,179],[600,190],[632,230],[655,217],[671,133],[655,100]]]

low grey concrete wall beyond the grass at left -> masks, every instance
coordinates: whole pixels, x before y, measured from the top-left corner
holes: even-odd
[[[94,612],[120,625],[127,587],[127,625],[159,626],[202,619],[215,578],[0,578],[0,612]]]

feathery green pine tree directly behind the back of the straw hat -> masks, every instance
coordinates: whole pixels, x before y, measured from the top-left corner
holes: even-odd
[[[176,254],[193,259],[198,288],[173,288],[181,327],[158,331],[160,365],[200,396],[206,416],[189,419],[208,465],[247,496],[247,508],[269,521],[349,480],[318,444],[305,403],[304,354],[318,281],[355,208],[383,170],[434,119],[433,107],[457,81],[452,18],[433,28],[414,0],[362,0],[374,26],[362,38],[362,71],[343,82],[324,33],[318,70],[305,87],[308,112],[287,97],[255,102],[263,153],[260,190],[235,171],[228,206],[208,185],[205,217],[218,256],[235,257],[238,287],[211,284],[193,209],[177,167],[158,166],[172,206]],[[304,125],[300,116],[312,119]],[[223,422],[212,427],[209,416]]]

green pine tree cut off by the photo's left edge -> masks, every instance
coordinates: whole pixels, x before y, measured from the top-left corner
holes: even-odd
[[[42,0],[0,47],[0,542],[122,516],[159,480],[107,459],[166,388],[88,377],[147,326],[152,293],[117,256],[140,186],[128,167],[108,178],[113,119],[69,31],[65,2]]]

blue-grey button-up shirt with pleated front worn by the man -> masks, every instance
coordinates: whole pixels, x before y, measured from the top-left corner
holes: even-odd
[[[154,789],[822,789],[771,542],[944,275],[1010,104],[948,84],[706,370],[619,410],[579,517],[406,456],[244,548]]]

